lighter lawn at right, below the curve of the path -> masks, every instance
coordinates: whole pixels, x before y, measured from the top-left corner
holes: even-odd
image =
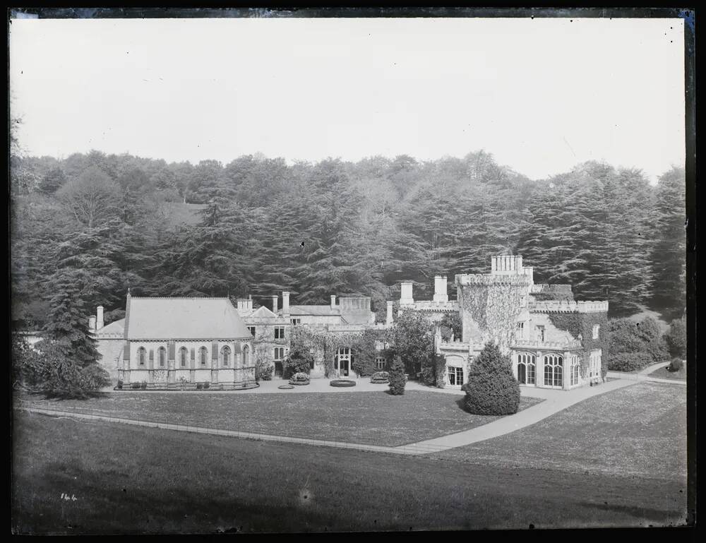
[[[537,424],[437,453],[496,467],[686,479],[686,387],[638,383],[589,398]]]

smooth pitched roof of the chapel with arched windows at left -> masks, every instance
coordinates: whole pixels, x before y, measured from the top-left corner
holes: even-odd
[[[127,340],[252,338],[228,298],[128,297]]]

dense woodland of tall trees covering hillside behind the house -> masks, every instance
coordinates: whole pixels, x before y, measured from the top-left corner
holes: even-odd
[[[384,320],[400,280],[431,298],[433,275],[486,273],[516,253],[536,282],[608,299],[611,316],[686,304],[685,178],[586,162],[532,180],[484,151],[287,165],[239,157],[168,164],[132,155],[11,156],[16,328],[51,326],[69,304],[124,314],[125,295],[292,292],[292,303],[366,294]],[[53,300],[53,301],[52,301]],[[62,302],[63,300],[63,302]]]

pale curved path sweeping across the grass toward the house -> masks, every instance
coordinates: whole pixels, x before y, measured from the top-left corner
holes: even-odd
[[[328,381],[326,381],[328,383]],[[417,384],[417,383],[415,383]],[[599,394],[604,394],[611,392],[612,390],[617,390],[618,388],[623,388],[626,386],[631,386],[637,384],[637,381],[616,379],[615,381],[608,381],[607,383],[602,383],[597,386],[587,386],[583,388],[577,388],[575,390],[551,390],[546,388],[522,388],[523,395],[531,395],[535,398],[543,398],[543,402],[539,402],[532,407],[527,407],[527,409],[517,412],[515,414],[508,415],[501,419],[496,419],[493,422],[484,424],[483,426],[477,426],[476,428],[460,431],[456,434],[449,434],[446,436],[441,436],[438,438],[427,439],[425,441],[418,441],[417,443],[409,443],[407,445],[390,447],[390,446],[376,446],[376,445],[366,445],[363,443],[346,443],[343,441],[329,441],[329,440],[318,440],[318,439],[308,439],[308,438],[295,438],[286,436],[272,436],[268,434],[255,434],[253,432],[244,431],[234,431],[234,430],[217,430],[213,428],[205,428],[202,426],[184,426],[181,424],[165,424],[161,422],[148,422],[133,419],[122,419],[119,417],[107,417],[103,415],[95,414],[83,414],[72,411],[64,410],[52,410],[44,409],[39,407],[19,407],[19,410],[32,413],[49,414],[52,416],[69,417],[73,419],[90,419],[90,420],[102,420],[106,422],[119,422],[121,424],[131,424],[134,426],[146,426],[150,428],[161,428],[176,431],[188,431],[196,432],[198,434],[212,434],[217,436],[232,436],[240,438],[250,438],[259,441],[280,441],[285,443],[305,443],[308,445],[317,446],[327,446],[327,447],[337,447],[337,448],[349,448],[357,450],[370,450],[380,453],[395,453],[395,454],[408,454],[408,455],[419,455],[425,453],[438,453],[442,450],[448,450],[450,448],[462,447],[469,445],[471,443],[477,443],[478,441],[484,441],[486,439],[491,439],[497,436],[503,436],[504,434],[509,434],[510,432],[525,428],[525,426],[530,426],[536,422],[550,417],[561,410],[566,409],[570,405],[582,402],[587,398],[596,396]],[[302,387],[303,388],[303,387]],[[334,387],[329,387],[334,388]],[[363,388],[363,387],[361,387]],[[429,389],[423,386],[414,386],[412,389]],[[256,389],[255,389],[256,390]],[[335,390],[345,390],[345,389],[335,389]],[[348,389],[350,390],[350,389]],[[375,390],[380,390],[376,388]],[[459,394],[459,390],[448,390],[448,389],[436,389],[439,392],[445,390],[448,393]],[[282,390],[282,392],[285,392]],[[289,392],[289,391],[287,391]],[[144,393],[144,392],[142,392]]]

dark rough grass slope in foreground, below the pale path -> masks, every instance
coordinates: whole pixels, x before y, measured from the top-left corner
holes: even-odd
[[[683,523],[686,509],[686,485],[676,480],[508,470],[26,412],[13,419],[12,450],[14,533],[657,526]]]

